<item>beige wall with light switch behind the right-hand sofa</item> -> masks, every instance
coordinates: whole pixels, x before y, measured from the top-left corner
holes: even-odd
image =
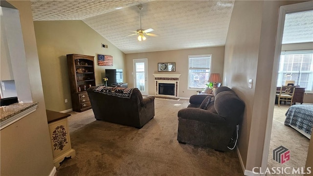
[[[235,89],[246,103],[238,143],[245,166],[255,96],[262,3],[262,1],[235,1],[225,44],[223,83]],[[252,88],[247,87],[248,79],[253,79]]]

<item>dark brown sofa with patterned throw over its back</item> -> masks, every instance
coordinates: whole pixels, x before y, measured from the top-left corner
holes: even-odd
[[[115,92],[113,92],[115,91]],[[126,91],[126,95],[125,92]],[[142,97],[138,88],[98,86],[87,89],[94,117],[140,129],[155,115],[155,97]]]

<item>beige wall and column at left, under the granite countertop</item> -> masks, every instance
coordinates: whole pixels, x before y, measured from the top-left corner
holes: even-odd
[[[0,174],[48,176],[54,167],[53,156],[30,1],[8,2],[20,11],[32,99],[39,105],[35,112],[0,131]]]

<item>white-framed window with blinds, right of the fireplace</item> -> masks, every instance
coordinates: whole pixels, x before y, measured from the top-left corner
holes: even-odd
[[[188,89],[203,89],[209,80],[212,55],[188,56]]]

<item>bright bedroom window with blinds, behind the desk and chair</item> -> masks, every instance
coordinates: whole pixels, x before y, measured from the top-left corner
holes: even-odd
[[[283,51],[280,55],[277,87],[293,80],[295,86],[313,92],[313,50]]]

